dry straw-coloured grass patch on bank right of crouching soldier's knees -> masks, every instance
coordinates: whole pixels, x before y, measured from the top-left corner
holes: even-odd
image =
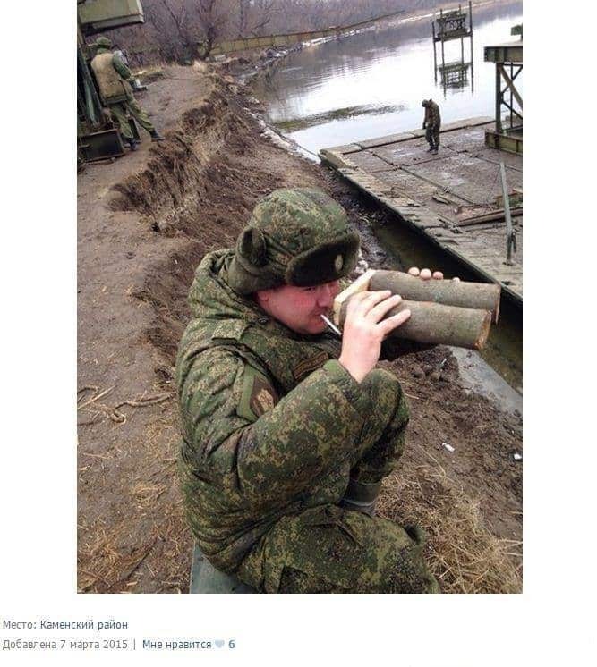
[[[522,543],[492,535],[479,502],[424,453],[430,464],[405,467],[386,479],[378,515],[424,528],[426,558],[442,592],[520,593]]]

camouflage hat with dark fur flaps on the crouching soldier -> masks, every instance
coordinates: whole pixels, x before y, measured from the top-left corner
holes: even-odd
[[[239,294],[330,283],[354,269],[359,245],[344,208],[321,190],[274,190],[236,241],[228,283]]]

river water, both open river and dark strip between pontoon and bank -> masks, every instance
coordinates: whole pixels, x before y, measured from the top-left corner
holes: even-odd
[[[510,29],[523,21],[522,3],[473,7],[472,49],[469,38],[462,45],[460,40],[444,45],[443,63],[460,63],[449,80],[435,69],[431,21],[432,14],[397,21],[287,55],[256,84],[269,121],[305,156],[318,159],[320,148],[420,128],[423,98],[439,103],[444,123],[493,117],[495,64],[483,62],[483,47],[516,39]],[[439,44],[436,54],[441,65]],[[521,72],[516,78],[521,91],[522,78]],[[373,232],[397,266],[432,266],[446,275],[476,279],[404,225],[374,225]],[[502,300],[499,325],[492,327],[482,357],[522,393],[520,308]]]

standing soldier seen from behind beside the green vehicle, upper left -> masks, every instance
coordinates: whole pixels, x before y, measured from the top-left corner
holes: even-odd
[[[95,46],[96,55],[91,61],[91,69],[95,74],[103,101],[131,150],[137,149],[137,140],[132,134],[127,113],[149,132],[152,141],[164,139],[132,95],[132,86],[129,83],[132,80],[132,72],[118,54],[112,53],[112,42],[107,37],[100,37],[96,40]]]

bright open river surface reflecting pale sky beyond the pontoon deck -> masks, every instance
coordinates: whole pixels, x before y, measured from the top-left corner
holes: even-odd
[[[463,53],[457,39],[444,44],[445,69],[436,76],[430,16],[307,46],[260,81],[257,97],[274,124],[315,154],[418,128],[421,100],[429,97],[439,102],[442,122],[492,116],[495,64],[483,62],[483,46],[513,41],[510,29],[520,22],[522,3],[473,8],[474,77],[470,42]]]

